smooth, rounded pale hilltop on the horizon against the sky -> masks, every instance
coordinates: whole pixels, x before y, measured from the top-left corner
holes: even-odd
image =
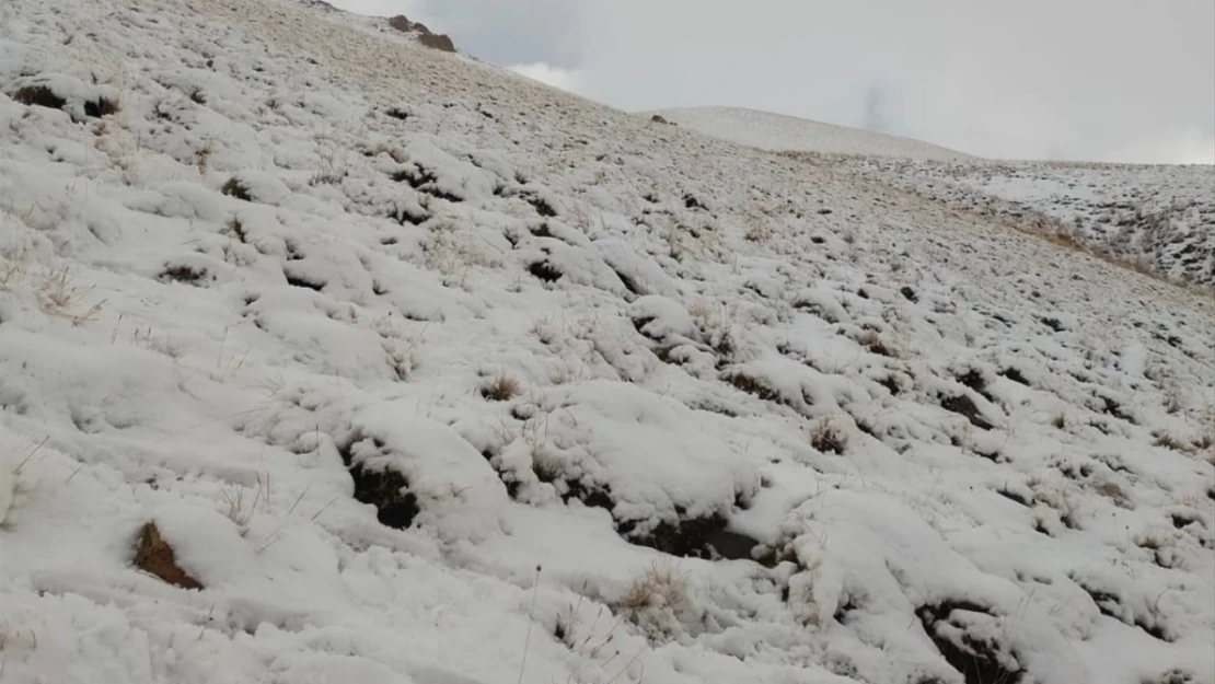
[[[940,162],[971,156],[919,140],[741,107],[686,107],[645,112],[694,131],[770,152],[860,154]]]

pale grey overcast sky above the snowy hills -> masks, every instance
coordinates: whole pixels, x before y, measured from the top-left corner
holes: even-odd
[[[627,111],[720,104],[985,157],[1215,163],[1211,0],[330,0]]]

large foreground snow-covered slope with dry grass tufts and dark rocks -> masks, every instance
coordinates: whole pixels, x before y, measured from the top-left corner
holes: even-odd
[[[0,5],[5,684],[1211,684],[1209,298],[269,0]]]

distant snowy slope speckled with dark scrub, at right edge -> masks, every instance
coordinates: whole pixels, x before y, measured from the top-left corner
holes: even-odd
[[[1179,282],[1215,287],[1215,166],[825,159]]]

